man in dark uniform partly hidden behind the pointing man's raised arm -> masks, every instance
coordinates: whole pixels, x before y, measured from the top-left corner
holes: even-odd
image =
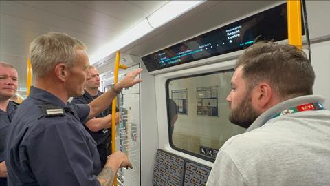
[[[75,97],[72,103],[88,104],[98,96],[103,94],[98,90],[100,87],[100,74],[94,66],[89,66],[87,71],[87,81],[85,85],[85,94]],[[119,121],[120,112],[116,110],[116,123]],[[91,118],[85,122],[85,129],[96,141],[98,145],[98,154],[100,154],[101,167],[107,162],[107,156],[111,154],[111,113],[112,104],[102,111],[96,118]]]

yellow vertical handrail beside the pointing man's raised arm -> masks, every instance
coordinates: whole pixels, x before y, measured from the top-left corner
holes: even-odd
[[[116,52],[115,54],[115,72],[114,72],[114,84],[118,83],[118,71],[119,68],[126,69],[125,65],[120,65],[120,52]],[[117,105],[117,97],[112,101],[112,116],[111,116],[111,152],[115,152],[115,107]],[[115,180],[113,182],[114,186],[117,186],[117,176],[115,176]]]

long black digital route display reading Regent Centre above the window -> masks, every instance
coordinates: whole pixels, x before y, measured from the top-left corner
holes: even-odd
[[[142,61],[148,72],[152,72],[243,50],[252,45],[256,37],[265,41],[287,39],[286,3],[144,56]]]

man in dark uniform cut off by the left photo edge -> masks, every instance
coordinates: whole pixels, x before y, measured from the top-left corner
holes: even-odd
[[[19,106],[10,101],[17,92],[19,75],[10,64],[0,61],[0,186],[7,185],[7,167],[5,166],[5,136],[8,126]]]

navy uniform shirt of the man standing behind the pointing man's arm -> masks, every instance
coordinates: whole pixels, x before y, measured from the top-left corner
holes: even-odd
[[[74,98],[72,100],[72,103],[88,104],[91,103],[91,101],[96,99],[101,94],[102,92],[98,91],[98,94],[96,96],[91,96],[91,94],[89,94],[85,90],[85,94],[83,94],[83,96]],[[116,111],[118,112],[118,110]],[[112,105],[110,105],[109,107],[107,107],[106,110],[98,114],[96,118],[102,118],[104,116],[107,116],[108,114],[112,114]],[[101,167],[103,167],[107,161],[107,156],[111,154],[111,128],[100,130],[98,132],[93,132],[89,130],[89,128],[86,126],[85,128],[98,144],[98,152],[100,154]]]

